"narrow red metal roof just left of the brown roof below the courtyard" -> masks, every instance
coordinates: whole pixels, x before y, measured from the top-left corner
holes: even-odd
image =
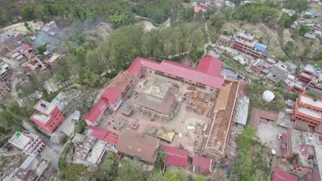
[[[88,134],[100,139],[101,141],[105,141],[107,143],[111,143],[116,145],[118,143],[118,136],[111,134],[107,130],[103,128],[99,128],[98,126],[88,126]]]

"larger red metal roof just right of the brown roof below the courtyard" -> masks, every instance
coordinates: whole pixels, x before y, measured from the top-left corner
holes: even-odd
[[[161,146],[161,149],[167,154],[164,163],[167,165],[175,165],[180,167],[186,167],[188,165],[188,152],[182,149],[169,146]]]

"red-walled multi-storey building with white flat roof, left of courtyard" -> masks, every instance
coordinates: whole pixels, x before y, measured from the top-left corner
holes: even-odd
[[[36,123],[39,128],[46,132],[54,132],[58,125],[65,120],[65,117],[54,104],[40,100],[35,106],[36,112],[30,119]]]

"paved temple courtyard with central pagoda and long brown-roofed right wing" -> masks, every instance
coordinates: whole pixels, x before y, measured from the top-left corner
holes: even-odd
[[[221,62],[217,66],[220,69]],[[98,106],[100,110],[109,109],[92,123],[116,135],[128,130],[159,138],[160,145],[184,149],[189,156],[197,153],[216,160],[224,158],[238,97],[237,80],[216,75],[222,79],[220,88],[216,88],[151,69],[140,70],[137,77],[129,71],[131,67],[111,80],[105,93],[111,85],[121,93],[113,101],[109,99],[112,105]],[[91,111],[97,114],[98,110]],[[92,117],[87,115],[87,119]]]

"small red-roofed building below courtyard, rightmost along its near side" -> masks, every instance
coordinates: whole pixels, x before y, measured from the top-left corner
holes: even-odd
[[[193,172],[210,173],[213,167],[213,160],[202,156],[193,156]]]

